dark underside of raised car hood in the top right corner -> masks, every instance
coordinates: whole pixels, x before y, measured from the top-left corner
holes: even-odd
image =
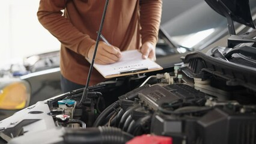
[[[255,29],[249,0],[205,0],[217,13]]]

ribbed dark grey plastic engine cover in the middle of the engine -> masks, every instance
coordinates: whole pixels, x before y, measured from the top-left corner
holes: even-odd
[[[182,103],[201,106],[206,101],[206,94],[184,84],[165,87],[154,85],[140,92],[139,99],[150,109],[157,110],[163,103],[173,103],[178,100]]]

